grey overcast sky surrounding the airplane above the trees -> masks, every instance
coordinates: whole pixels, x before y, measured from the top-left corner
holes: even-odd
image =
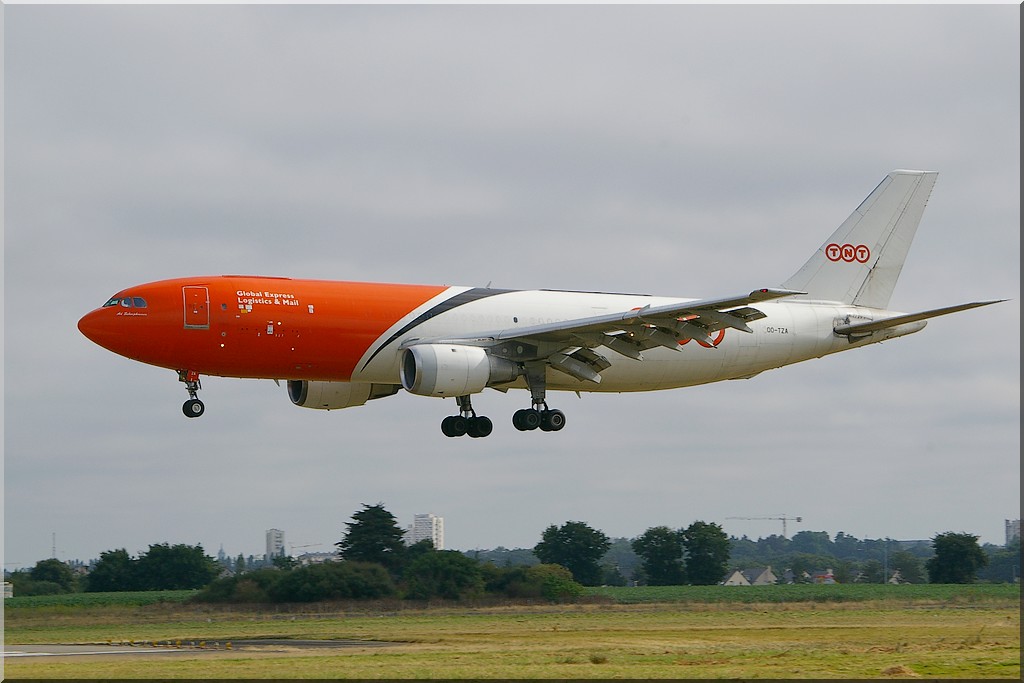
[[[996,6],[7,6],[5,567],[157,543],[333,550],[362,504],[450,548],[722,524],[865,539],[1020,515],[1019,12]],[[716,297],[776,286],[887,172],[939,171],[916,335],[647,394],[308,411],[76,324],[258,273]],[[55,536],[54,536],[55,535]]]

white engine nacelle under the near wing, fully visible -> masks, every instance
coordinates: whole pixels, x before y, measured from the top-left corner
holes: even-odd
[[[421,396],[466,396],[519,375],[514,362],[477,346],[417,344],[401,355],[401,386]]]

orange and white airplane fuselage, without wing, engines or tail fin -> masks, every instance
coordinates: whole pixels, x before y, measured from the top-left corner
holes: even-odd
[[[243,275],[187,278],[132,287],[79,323],[123,356],[201,375],[400,384],[400,347],[410,340],[471,337],[587,318],[687,299],[550,290],[393,285]],[[751,333],[717,331],[714,344],[683,339],[643,359],[612,352],[601,382],[548,371],[550,389],[650,391],[751,377],[915,332],[902,326],[851,341],[841,321],[881,313],[850,304],[773,301]],[[510,386],[525,387],[520,379]]]

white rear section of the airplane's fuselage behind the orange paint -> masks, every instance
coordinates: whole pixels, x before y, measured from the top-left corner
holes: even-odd
[[[437,299],[451,297],[468,288],[451,288]],[[645,295],[599,294],[588,292],[518,291],[499,294],[463,304],[417,325],[407,334],[390,341],[384,348],[372,346],[352,375],[353,382],[395,384],[398,382],[399,348],[406,341],[446,336],[472,337],[514,331],[517,327],[560,323],[603,315],[609,312],[685,302],[688,299]],[[423,309],[436,304],[432,300],[410,313],[392,328],[401,329]],[[864,346],[894,336],[915,332],[924,324],[905,329],[874,333],[851,342],[834,334],[838,322],[850,315],[873,319],[882,311],[834,302],[764,302],[757,308],[766,316],[750,324],[753,333],[726,329],[713,335],[717,346],[685,340],[679,350],[663,347],[647,349],[637,360],[605,347],[595,350],[611,366],[601,372],[601,382],[581,381],[549,369],[548,388],[569,391],[653,391],[739,379],[773,368],[820,357],[829,353]],[[891,313],[889,313],[891,314]],[[847,321],[848,322],[848,321]],[[382,335],[381,342],[392,332]],[[582,346],[583,344],[581,344]],[[373,358],[364,368],[366,359]],[[525,388],[520,379],[512,387]]]

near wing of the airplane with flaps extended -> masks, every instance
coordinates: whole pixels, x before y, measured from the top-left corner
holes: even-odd
[[[600,383],[600,372],[611,364],[593,348],[604,346],[642,360],[642,352],[655,346],[681,350],[681,340],[695,339],[714,347],[712,334],[715,332],[732,328],[750,333],[752,330],[746,324],[765,317],[751,304],[796,294],[804,292],[765,288],[723,299],[647,305],[604,315],[496,330],[472,337],[410,339],[401,347],[434,343],[484,346],[498,357],[522,362],[547,361],[555,370],[579,380]]]

